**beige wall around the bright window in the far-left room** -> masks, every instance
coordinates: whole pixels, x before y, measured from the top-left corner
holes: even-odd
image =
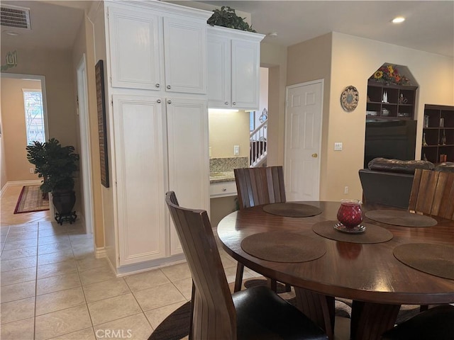
[[[22,89],[41,89],[41,81],[1,77],[2,139],[5,146],[6,182],[38,180],[27,159],[26,117]]]

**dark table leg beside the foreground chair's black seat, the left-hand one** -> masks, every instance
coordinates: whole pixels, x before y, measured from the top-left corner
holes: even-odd
[[[334,339],[334,297],[294,287],[297,307]]]

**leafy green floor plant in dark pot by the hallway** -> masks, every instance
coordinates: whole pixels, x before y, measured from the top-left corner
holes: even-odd
[[[57,210],[55,220],[74,222],[77,215],[72,208],[76,203],[74,193],[74,172],[78,170],[79,154],[74,147],[62,147],[51,138],[48,142],[32,142],[26,147],[28,162],[35,165],[35,174],[43,179],[40,189],[52,193],[52,203]]]

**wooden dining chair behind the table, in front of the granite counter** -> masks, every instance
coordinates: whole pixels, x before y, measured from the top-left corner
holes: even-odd
[[[282,166],[233,169],[233,174],[235,174],[240,209],[261,204],[285,202],[284,171]],[[233,288],[235,292],[241,290],[243,272],[244,265],[238,262],[235,288]],[[276,280],[269,280],[271,289],[276,291]],[[286,285],[285,288],[286,291],[290,291],[289,285]]]

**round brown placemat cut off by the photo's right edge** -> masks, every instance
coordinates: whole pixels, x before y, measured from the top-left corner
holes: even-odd
[[[406,266],[454,280],[454,246],[409,243],[396,246],[392,252]]]

